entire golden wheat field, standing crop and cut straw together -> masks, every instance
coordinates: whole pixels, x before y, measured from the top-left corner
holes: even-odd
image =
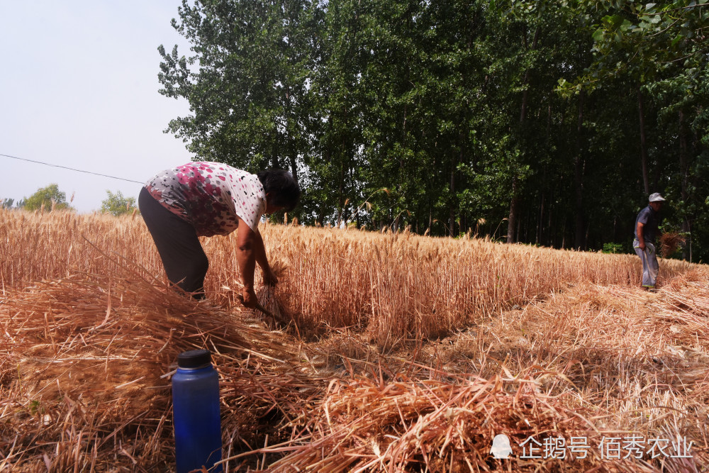
[[[709,467],[704,265],[661,260],[647,293],[634,255],[266,223],[286,327],[235,298],[235,235],[203,240],[196,303],[140,216],[0,222],[0,471],[171,471],[169,373],[193,347],[220,372],[226,471]]]

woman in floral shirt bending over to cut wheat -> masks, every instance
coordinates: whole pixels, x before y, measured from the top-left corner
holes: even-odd
[[[195,299],[204,297],[209,267],[198,237],[236,230],[244,305],[254,307],[256,263],[264,284],[278,282],[266,257],[259,220],[264,214],[293,210],[300,195],[293,176],[280,169],[250,174],[218,162],[190,162],[152,177],[140,190],[138,207],[167,279]]]

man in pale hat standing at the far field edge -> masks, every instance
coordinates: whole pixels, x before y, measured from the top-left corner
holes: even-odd
[[[664,197],[655,192],[650,194],[647,207],[643,208],[635,218],[635,240],[632,247],[635,253],[640,256],[642,262],[642,289],[654,289],[657,280],[657,250],[655,238],[659,235],[657,228],[660,218],[659,211],[662,208]]]

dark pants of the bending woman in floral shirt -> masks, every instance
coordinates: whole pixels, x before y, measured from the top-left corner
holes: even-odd
[[[155,240],[167,279],[195,299],[202,299],[209,261],[194,227],[162,206],[145,187],[140,190],[138,208]]]

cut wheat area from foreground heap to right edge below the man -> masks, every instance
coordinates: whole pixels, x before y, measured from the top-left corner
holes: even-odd
[[[285,455],[268,472],[703,471],[706,294],[706,271],[659,294],[581,284],[479,327],[479,345],[452,347],[435,369],[333,380],[299,438],[252,455]],[[509,460],[489,455],[500,433]]]

